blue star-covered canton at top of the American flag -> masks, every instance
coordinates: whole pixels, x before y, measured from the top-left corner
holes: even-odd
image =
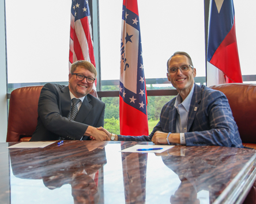
[[[80,20],[86,16],[91,16],[88,1],[73,0],[71,6],[71,14],[75,17],[74,21]]]

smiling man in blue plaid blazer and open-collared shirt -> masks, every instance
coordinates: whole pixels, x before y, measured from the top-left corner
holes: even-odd
[[[243,148],[227,97],[194,83],[196,70],[191,57],[186,52],[175,52],[167,61],[167,71],[168,80],[179,94],[164,105],[160,121],[149,136],[112,136],[100,129],[111,140]]]

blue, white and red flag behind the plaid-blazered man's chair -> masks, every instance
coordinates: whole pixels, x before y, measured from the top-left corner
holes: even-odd
[[[211,2],[207,52],[208,64],[212,64],[223,72],[225,75],[224,83],[243,83],[238,45],[236,43],[233,1],[212,0]],[[208,75],[213,78],[213,75],[209,74],[209,72]]]

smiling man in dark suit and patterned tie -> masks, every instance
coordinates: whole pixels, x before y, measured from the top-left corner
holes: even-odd
[[[89,140],[88,136],[109,140],[106,133],[96,129],[104,125],[105,109],[103,102],[89,94],[96,75],[92,63],[80,60],[71,65],[69,86],[46,84],[39,97],[37,126],[30,141]]]

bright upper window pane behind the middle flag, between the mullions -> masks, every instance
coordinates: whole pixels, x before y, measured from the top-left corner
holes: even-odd
[[[204,2],[139,0],[138,11],[146,79],[166,78],[167,60],[176,51],[188,52],[197,76],[205,76]],[[119,79],[122,1],[99,0],[99,17],[101,78]]]

